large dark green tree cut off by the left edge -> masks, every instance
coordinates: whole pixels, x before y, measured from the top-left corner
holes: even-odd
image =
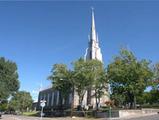
[[[0,100],[7,99],[19,89],[16,63],[0,57]]]

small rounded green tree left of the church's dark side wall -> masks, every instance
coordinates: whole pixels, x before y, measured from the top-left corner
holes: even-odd
[[[33,103],[32,97],[29,92],[19,91],[13,95],[9,102],[9,109],[24,112],[31,108]]]

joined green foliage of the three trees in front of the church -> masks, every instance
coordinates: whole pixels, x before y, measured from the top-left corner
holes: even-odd
[[[61,92],[63,98],[67,98],[71,90],[75,90],[79,96],[79,105],[82,105],[84,95],[90,88],[95,90],[91,97],[96,97],[99,104],[107,87],[106,71],[98,60],[85,61],[80,58],[73,62],[72,71],[65,64],[55,64],[48,79],[52,81],[53,88]]]

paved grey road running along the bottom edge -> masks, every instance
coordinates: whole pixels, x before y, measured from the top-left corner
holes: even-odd
[[[3,115],[1,120],[41,120],[39,117],[27,117],[27,116],[16,116],[16,115]],[[86,119],[86,118],[43,118],[43,120],[159,120],[159,114],[141,116],[136,118],[121,118],[121,119]]]

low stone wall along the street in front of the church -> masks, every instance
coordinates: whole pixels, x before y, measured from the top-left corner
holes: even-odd
[[[73,111],[73,116],[78,117],[84,117],[91,116],[96,118],[123,118],[123,117],[132,117],[132,116],[142,116],[142,115],[148,115],[148,114],[157,114],[159,113],[159,109],[141,109],[141,110],[111,110],[111,113],[109,113],[109,110],[107,111],[87,111],[84,113],[83,111]],[[45,116],[54,116],[54,117],[60,117],[60,116],[70,116],[71,111],[47,111],[45,112]]]

